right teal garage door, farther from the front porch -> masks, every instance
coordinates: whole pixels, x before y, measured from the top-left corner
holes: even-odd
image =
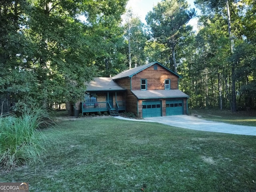
[[[167,100],[166,116],[183,115],[183,100]]]

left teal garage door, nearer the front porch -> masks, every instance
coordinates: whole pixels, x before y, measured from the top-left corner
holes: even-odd
[[[142,101],[142,117],[162,116],[161,101]]]

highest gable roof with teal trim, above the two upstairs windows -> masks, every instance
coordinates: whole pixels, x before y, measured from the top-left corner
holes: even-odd
[[[166,68],[165,66],[163,66],[162,64],[160,64],[159,62],[155,61],[155,62],[152,62],[152,63],[148,63],[146,65],[142,65],[142,66],[139,66],[139,67],[136,67],[136,68],[132,68],[132,69],[129,69],[129,70],[125,70],[117,75],[115,75],[113,77],[113,80],[115,79],[122,79],[122,78],[127,78],[127,77],[132,77],[134,75],[136,75],[137,73],[141,72],[142,70],[154,65],[154,64],[158,64],[160,66],[162,66],[163,68],[165,68],[166,70],[168,70],[170,73],[178,76],[178,78],[182,78],[182,76],[174,73],[172,70]]]

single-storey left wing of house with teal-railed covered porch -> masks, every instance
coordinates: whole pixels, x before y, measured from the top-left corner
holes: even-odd
[[[84,100],[75,105],[68,103],[68,114],[78,116],[90,112],[110,112],[118,115],[125,110],[126,89],[119,86],[112,78],[97,77],[86,84]]]

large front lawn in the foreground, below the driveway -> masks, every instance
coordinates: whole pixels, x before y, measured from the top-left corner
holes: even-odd
[[[29,182],[30,192],[256,191],[255,136],[112,117],[62,120],[43,132],[58,147],[0,182]]]

